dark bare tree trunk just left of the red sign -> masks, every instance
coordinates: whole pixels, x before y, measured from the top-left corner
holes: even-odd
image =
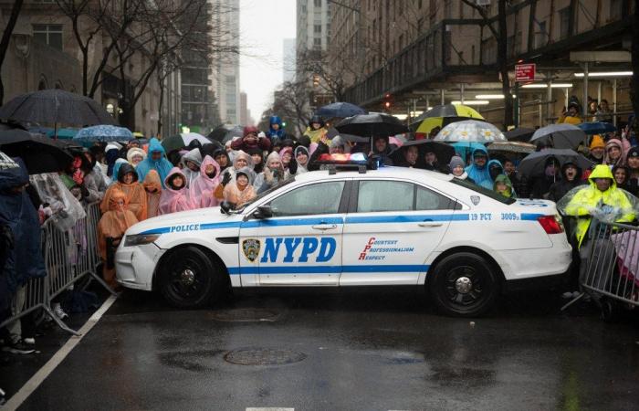
[[[462,0],[466,5],[477,10],[479,16],[484,20],[484,24],[490,30],[490,34],[497,42],[497,64],[499,76],[501,77],[501,92],[504,95],[504,127],[508,127],[513,122],[513,100],[510,92],[510,80],[508,79],[508,26],[506,22],[506,0],[498,0],[497,28],[493,26],[488,16],[487,8],[477,5],[474,0]]]

